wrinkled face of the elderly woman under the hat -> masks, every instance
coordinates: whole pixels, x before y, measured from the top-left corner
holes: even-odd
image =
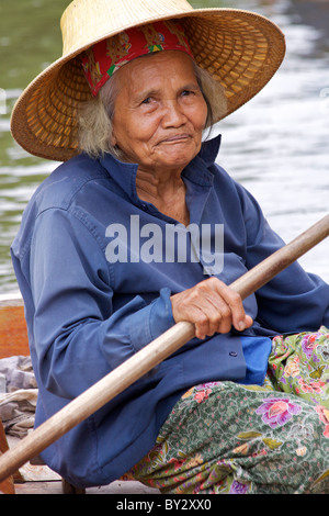
[[[116,74],[112,144],[139,169],[181,171],[200,152],[207,116],[192,59],[159,52]]]

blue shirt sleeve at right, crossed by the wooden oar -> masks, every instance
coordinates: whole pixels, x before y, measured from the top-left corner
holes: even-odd
[[[270,227],[250,193],[242,198],[247,232],[247,268],[251,269],[285,243]],[[317,330],[329,325],[329,285],[295,261],[257,292],[258,321],[274,332]]]

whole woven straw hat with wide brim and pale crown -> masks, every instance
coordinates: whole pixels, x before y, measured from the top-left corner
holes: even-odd
[[[226,115],[256,96],[284,57],[282,32],[248,11],[193,9],[186,0],[75,0],[61,16],[63,57],[31,82],[13,109],[16,142],[47,159],[78,154],[77,108],[92,98],[81,52],[126,29],[170,19],[180,19],[196,64],[224,87]]]

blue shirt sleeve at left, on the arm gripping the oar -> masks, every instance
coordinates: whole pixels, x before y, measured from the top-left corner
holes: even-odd
[[[169,289],[148,305],[137,295],[113,311],[105,251],[65,210],[38,216],[30,270],[38,374],[63,397],[79,395],[174,324]]]

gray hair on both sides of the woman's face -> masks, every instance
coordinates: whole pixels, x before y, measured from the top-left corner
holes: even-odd
[[[224,88],[194,61],[193,66],[198,87],[207,104],[205,128],[208,128],[211,134],[214,122],[222,119],[227,111]],[[117,159],[124,160],[121,149],[111,143],[113,132],[112,120],[118,93],[116,77],[116,74],[114,74],[111,80],[107,80],[101,88],[99,94],[94,99],[84,102],[79,111],[79,148],[93,158],[99,158],[110,153]]]

